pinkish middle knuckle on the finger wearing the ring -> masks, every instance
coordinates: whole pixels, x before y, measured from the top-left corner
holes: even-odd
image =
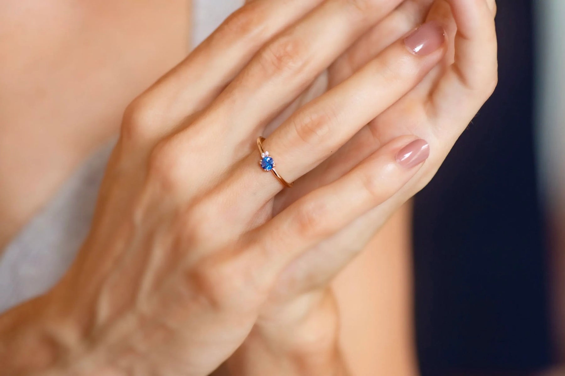
[[[327,109],[319,112],[298,113],[290,121],[298,138],[306,145],[315,146],[319,145],[321,139],[331,134],[336,117],[334,111]]]

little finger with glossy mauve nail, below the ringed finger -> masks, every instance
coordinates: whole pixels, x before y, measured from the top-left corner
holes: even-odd
[[[252,231],[250,258],[262,260],[264,278],[279,276],[297,256],[396,194],[428,156],[427,142],[414,136],[394,139],[344,177]]]

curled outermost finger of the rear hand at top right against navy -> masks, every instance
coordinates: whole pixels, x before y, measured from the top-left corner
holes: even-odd
[[[455,62],[433,91],[431,107],[437,116],[468,124],[497,83],[496,29],[485,0],[449,2],[457,24]]]

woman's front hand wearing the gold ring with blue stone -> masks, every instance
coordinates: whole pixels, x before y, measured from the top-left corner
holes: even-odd
[[[466,10],[482,0],[452,2]],[[466,117],[447,141],[430,138],[438,151],[418,180],[428,154],[414,134],[435,133],[407,126],[363,150],[353,169],[277,208],[282,187],[258,167],[255,146],[264,125],[398,3],[255,0],[141,95],[124,117],[75,264],[49,294],[0,318],[7,373],[209,374],[258,319],[307,290],[299,283],[284,299],[273,294],[294,260],[357,218],[375,210],[386,216],[407,199],[437,168]],[[458,43],[464,60],[476,60],[472,47],[483,32],[467,25],[472,33]],[[355,134],[419,84],[445,53],[441,28],[425,30],[426,38],[386,47],[270,134],[265,147],[282,177],[294,181],[347,142],[355,145],[363,138]],[[446,73],[437,90],[455,87],[450,95],[471,98],[458,84],[474,72],[467,65],[458,63],[457,75]],[[484,100],[477,97],[460,115],[472,117]],[[337,272],[346,262],[337,259],[316,265],[313,275]],[[333,367],[323,366],[317,371],[331,374]]]

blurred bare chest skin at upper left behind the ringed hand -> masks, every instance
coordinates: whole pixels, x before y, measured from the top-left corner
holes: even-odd
[[[185,0],[0,4],[0,248],[115,137],[128,103],[185,58],[188,7]]]

